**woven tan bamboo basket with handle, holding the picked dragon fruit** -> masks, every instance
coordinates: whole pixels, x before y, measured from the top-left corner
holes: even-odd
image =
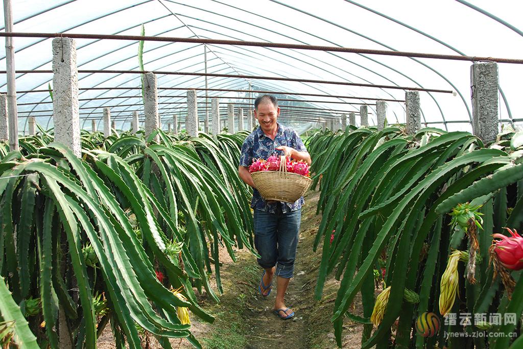
[[[251,176],[256,189],[265,200],[290,204],[302,197],[312,183],[309,177],[287,172],[285,156],[281,156],[279,171],[253,172]]]

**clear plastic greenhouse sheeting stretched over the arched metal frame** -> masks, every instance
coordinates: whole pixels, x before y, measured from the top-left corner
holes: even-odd
[[[464,1],[376,2],[327,0],[263,0],[256,2],[197,0],[113,0],[63,1],[14,0],[15,32],[90,33],[183,37],[311,44],[377,50],[471,55],[497,58],[523,57],[523,33],[517,28],[521,2]],[[488,16],[491,14],[495,18]],[[2,12],[3,16],[3,12]],[[2,22],[3,22],[2,18]],[[4,29],[2,29],[4,30]],[[50,70],[51,41],[43,38],[14,38],[17,70]],[[139,70],[138,41],[77,39],[79,70]],[[207,72],[335,81],[372,85],[422,87],[454,91],[420,92],[422,125],[448,130],[471,130],[471,62],[415,59],[388,55],[328,51],[228,46],[207,44]],[[146,71],[203,73],[204,45],[183,42],[145,41]],[[6,69],[5,47],[0,48],[0,70]],[[519,127],[523,107],[518,103],[523,66],[499,63],[499,119]],[[102,108],[110,107],[117,129],[131,127],[132,111],[143,119],[139,74],[79,73],[80,117],[84,129],[96,120],[103,127]],[[264,80],[258,78],[208,77],[212,89],[253,89],[322,96],[287,95],[303,100],[303,108],[282,108],[282,122],[300,132],[368,104],[369,123],[376,124],[376,98],[404,100],[403,89],[359,87],[325,83]],[[18,73],[18,128],[27,133],[27,117],[33,116],[46,129],[52,127],[52,103],[48,92],[50,73]],[[203,76],[158,75],[159,112],[164,129],[177,115],[185,119],[187,88],[204,88]],[[88,88],[104,89],[88,89]],[[124,89],[115,89],[124,88]],[[183,89],[166,89],[183,88]],[[33,92],[43,90],[42,92]],[[6,75],[0,77],[0,91],[6,91]],[[26,91],[26,92],[22,92]],[[248,93],[198,91],[200,120],[206,114],[205,97],[221,98],[222,118],[226,103],[247,110],[240,99]],[[331,96],[351,96],[342,98]],[[374,98],[374,99],[369,99]],[[287,102],[282,102],[282,106]],[[289,102],[290,103],[290,102]],[[297,102],[293,102],[294,107]],[[387,102],[388,123],[405,122],[404,102]],[[292,109],[292,111],[291,111]],[[210,114],[210,113],[209,113]],[[285,115],[285,118],[283,116]]]

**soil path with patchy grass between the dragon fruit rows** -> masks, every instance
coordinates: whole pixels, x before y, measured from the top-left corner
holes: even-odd
[[[298,252],[294,277],[287,289],[286,303],[295,316],[292,320],[281,320],[272,312],[276,297],[273,284],[271,294],[265,298],[258,292],[261,268],[249,252],[235,251],[237,262],[233,263],[226,251],[220,256],[224,294],[215,304],[205,294],[200,296],[200,305],[214,316],[213,324],[199,322],[191,317],[191,332],[204,348],[208,349],[326,349],[335,348],[334,329],[330,318],[339,282],[330,278],[325,283],[323,297],[314,299],[314,287],[321,261],[321,247],[312,251],[314,238],[321,216],[316,216],[319,192],[305,196]],[[358,295],[359,296],[359,295]],[[361,298],[355,300],[351,312],[362,316]],[[343,347],[359,348],[363,326],[345,319]],[[101,349],[113,348],[110,329],[107,328],[98,341]],[[185,339],[172,340],[173,348],[191,348]],[[160,347],[153,339],[150,347]]]

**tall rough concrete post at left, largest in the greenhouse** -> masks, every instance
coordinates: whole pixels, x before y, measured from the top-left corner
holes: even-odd
[[[53,50],[53,123],[54,140],[82,155],[78,110],[78,68],[76,42],[70,38],[54,38]]]

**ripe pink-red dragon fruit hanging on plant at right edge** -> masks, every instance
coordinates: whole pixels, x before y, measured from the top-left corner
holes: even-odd
[[[494,239],[492,243],[495,244],[494,252],[501,264],[510,270],[523,269],[523,238],[518,234],[516,229],[514,231],[505,228],[512,235],[507,237],[503,234],[493,234]]]

